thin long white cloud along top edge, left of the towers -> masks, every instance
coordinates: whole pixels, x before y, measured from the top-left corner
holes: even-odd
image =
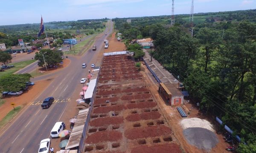
[[[73,0],[71,5],[96,5],[102,3],[119,3],[119,2],[126,2],[126,3],[137,3],[144,0]]]

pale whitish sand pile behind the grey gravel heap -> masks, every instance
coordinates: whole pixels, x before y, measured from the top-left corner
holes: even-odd
[[[205,119],[199,119],[199,118],[183,119],[180,122],[180,124],[183,129],[186,129],[189,127],[202,127],[202,128],[208,129],[212,132],[215,132],[212,124]]]

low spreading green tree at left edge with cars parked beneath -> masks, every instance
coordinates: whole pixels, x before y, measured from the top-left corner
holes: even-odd
[[[20,91],[26,87],[26,83],[30,80],[30,74],[7,74],[0,77],[1,91]]]

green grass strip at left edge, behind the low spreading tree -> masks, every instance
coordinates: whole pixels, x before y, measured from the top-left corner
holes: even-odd
[[[4,75],[7,75],[7,74],[13,74],[15,73],[16,71],[19,71],[20,69],[26,67],[27,65],[31,64],[32,62],[35,62],[36,60],[28,60],[28,61],[23,61],[23,62],[17,62],[17,63],[10,63],[9,65],[14,65],[13,68],[9,68],[9,69],[6,69],[5,71],[3,72],[0,72],[0,77],[4,76]]]

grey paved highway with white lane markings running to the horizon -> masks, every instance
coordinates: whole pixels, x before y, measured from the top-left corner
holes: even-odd
[[[73,94],[77,96],[78,93],[74,91],[76,88],[81,88],[80,79],[87,76],[90,64],[95,62],[92,59],[102,48],[103,40],[108,37],[105,33],[111,34],[112,29],[113,23],[111,22],[110,27],[104,31],[104,35],[95,41],[97,51],[89,49],[81,57],[70,56],[71,62],[63,70],[31,79],[32,81],[52,79],[52,83],[42,91],[35,102],[30,102],[30,105],[24,108],[25,111],[6,130],[1,131],[0,153],[36,153],[38,151],[38,144],[42,139],[50,136],[50,130],[65,112],[70,97]],[[84,62],[88,66],[82,69],[81,65]],[[48,109],[41,109],[41,103],[38,101],[48,96],[53,96],[59,101],[54,102]]]

